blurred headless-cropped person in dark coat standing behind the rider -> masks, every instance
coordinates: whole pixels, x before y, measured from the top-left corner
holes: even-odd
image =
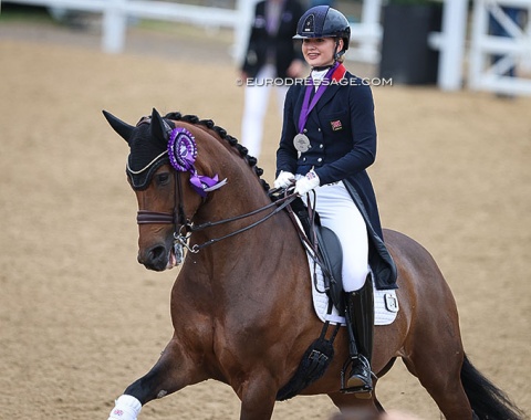
[[[263,119],[271,87],[274,85],[277,88],[278,106],[282,109],[288,84],[278,81],[299,77],[304,70],[304,60],[293,41],[302,12],[296,0],[259,1],[254,9],[249,42],[240,67],[241,80],[246,85],[241,143],[254,157],[261,151]]]

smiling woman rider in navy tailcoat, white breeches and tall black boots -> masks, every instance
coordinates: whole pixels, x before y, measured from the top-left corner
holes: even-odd
[[[373,279],[396,288],[396,266],[383,242],[376,197],[366,172],[376,157],[371,87],[343,65],[350,24],[337,10],[317,6],[299,21],[295,39],[312,67],[310,77],[288,91],[277,151],[275,188],[308,200],[315,191],[321,224],[343,249],[345,319],[351,366],[345,392],[372,391]],[[345,367],[346,369],[346,367]]]

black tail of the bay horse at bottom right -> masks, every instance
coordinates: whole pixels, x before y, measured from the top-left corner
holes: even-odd
[[[461,382],[473,412],[480,420],[523,420],[528,417],[509,397],[476,369],[467,355]]]

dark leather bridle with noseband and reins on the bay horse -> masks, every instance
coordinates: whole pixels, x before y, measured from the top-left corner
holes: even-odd
[[[180,175],[181,175],[180,172],[178,172],[177,170],[174,170],[175,203],[174,203],[174,211],[171,213],[149,211],[149,210],[138,210],[137,217],[136,217],[137,224],[173,224],[174,225],[174,250],[176,251],[177,255],[179,255],[178,252],[181,255],[183,248],[186,248],[189,252],[198,253],[201,249],[209,246],[216,242],[219,242],[225,239],[235,237],[239,233],[246,232],[257,227],[258,224],[263,223],[264,221],[272,218],[274,214],[282,211],[298,197],[298,195],[293,192],[289,193],[288,191],[284,191],[283,197],[278,198],[275,201],[272,201],[271,203],[263,206],[261,208],[258,208],[256,210],[252,210],[248,213],[239,214],[232,218],[221,219],[217,221],[208,221],[201,224],[195,224],[192,219],[188,218],[185,212],[184,193],[183,193]],[[275,191],[273,190],[270,192],[275,192]],[[241,220],[254,214],[259,214],[270,209],[272,210],[268,212],[266,216],[263,216],[261,219],[246,225],[244,228],[237,229],[219,238],[210,239],[204,243],[196,243],[192,246],[188,244],[188,241],[194,232],[199,232],[208,228],[235,222],[237,220]]]

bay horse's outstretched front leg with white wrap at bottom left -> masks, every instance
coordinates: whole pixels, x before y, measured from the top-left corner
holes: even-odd
[[[142,406],[150,400],[206,379],[200,364],[187,357],[180,343],[173,338],[149,372],[129,385],[116,400],[108,420],[136,420]]]

